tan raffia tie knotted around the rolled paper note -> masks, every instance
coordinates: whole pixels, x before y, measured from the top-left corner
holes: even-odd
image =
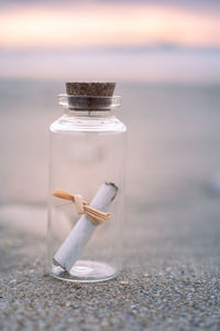
[[[100,212],[90,206],[80,194],[69,194],[63,190],[55,190],[53,195],[64,200],[69,200],[76,204],[76,209],[79,215],[85,214],[94,225],[99,225],[109,220],[110,213]]]

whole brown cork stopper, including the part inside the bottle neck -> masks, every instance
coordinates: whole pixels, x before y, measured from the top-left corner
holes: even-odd
[[[66,83],[69,109],[100,111],[118,106],[119,97],[113,96],[116,83],[74,82]]]

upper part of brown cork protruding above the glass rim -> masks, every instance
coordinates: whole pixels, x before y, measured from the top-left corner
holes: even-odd
[[[74,83],[66,83],[66,94],[111,97],[113,95],[114,87],[116,87],[116,83],[74,82]]]

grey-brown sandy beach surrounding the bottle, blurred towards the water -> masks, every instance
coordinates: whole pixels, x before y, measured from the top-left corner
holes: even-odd
[[[46,139],[61,84],[13,84],[0,89],[0,330],[219,330],[219,86],[119,88],[130,132],[124,266],[80,285],[44,267]]]

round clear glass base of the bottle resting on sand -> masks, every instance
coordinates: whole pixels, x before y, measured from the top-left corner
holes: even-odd
[[[77,260],[70,271],[52,265],[51,276],[59,280],[73,282],[97,282],[112,279],[118,271],[108,264],[96,260]]]

